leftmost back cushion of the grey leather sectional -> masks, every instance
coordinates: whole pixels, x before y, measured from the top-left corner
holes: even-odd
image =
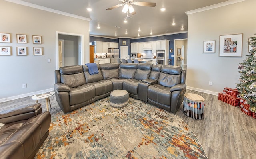
[[[82,66],[60,67],[60,82],[70,88],[86,84]]]

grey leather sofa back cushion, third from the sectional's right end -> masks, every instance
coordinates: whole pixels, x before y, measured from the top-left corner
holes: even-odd
[[[152,68],[151,63],[138,63],[137,70],[134,75],[134,79],[143,80],[148,79]]]

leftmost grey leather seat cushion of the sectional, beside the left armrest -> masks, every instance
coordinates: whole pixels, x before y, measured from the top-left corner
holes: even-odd
[[[95,97],[95,88],[90,84],[71,88],[69,92],[70,105],[80,104]]]

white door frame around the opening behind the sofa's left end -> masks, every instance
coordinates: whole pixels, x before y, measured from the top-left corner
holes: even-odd
[[[78,47],[80,49],[78,48],[78,51],[80,50],[80,63],[83,64],[84,63],[84,35],[56,31],[56,69],[59,69],[59,34],[80,37],[80,44],[78,44]]]

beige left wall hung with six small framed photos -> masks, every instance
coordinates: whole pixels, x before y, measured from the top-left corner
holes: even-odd
[[[0,102],[10,97],[50,90],[56,69],[56,31],[84,36],[84,62],[89,62],[89,21],[47,12],[0,0],[0,32],[11,34],[12,56],[0,57]],[[4,10],[3,10],[4,8]],[[17,43],[16,34],[26,34],[28,43]],[[42,44],[33,44],[32,35],[41,35]],[[16,47],[28,47],[28,56],[17,56]],[[33,55],[33,47],[43,47],[42,56]],[[47,63],[51,59],[51,63]],[[22,88],[26,83],[27,88]]]

